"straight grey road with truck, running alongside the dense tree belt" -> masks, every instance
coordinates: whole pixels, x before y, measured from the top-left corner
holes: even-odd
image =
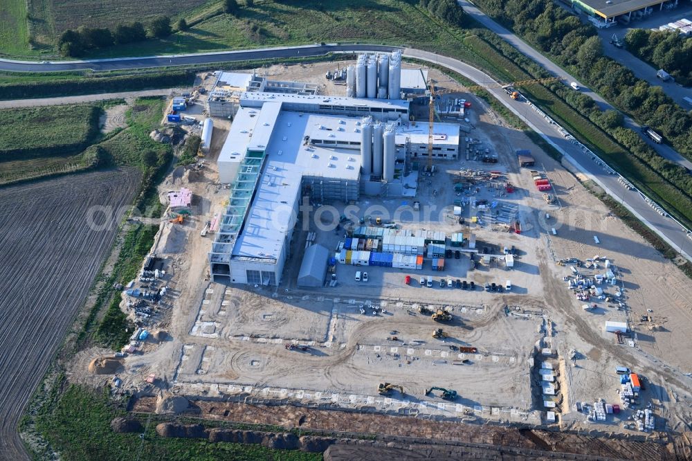
[[[579,84],[579,87],[581,87],[581,92],[588,94],[594,101],[596,101],[597,105],[602,109],[612,109],[612,110],[617,110],[612,105],[610,105],[606,100],[601,98],[597,93],[594,93],[594,91],[591,91],[585,84],[579,81],[579,79],[575,78],[573,75],[570,75],[567,73],[564,69],[562,69],[560,66],[557,64],[554,64],[551,60],[549,60],[547,57],[543,56],[540,54],[538,51],[536,51],[534,48],[531,47],[531,45],[527,44],[524,42],[522,39],[514,35],[510,30],[507,30],[506,28],[500,26],[500,24],[496,23],[491,19],[490,17],[486,16],[484,12],[482,12],[479,8],[473,5],[473,3],[469,2],[468,0],[458,0],[459,5],[461,5],[464,10],[473,17],[476,21],[478,21],[480,24],[485,26],[486,28],[489,28],[492,30],[494,33],[500,35],[502,39],[504,39],[505,42],[508,42],[511,44],[514,48],[517,48],[521,53],[526,55],[527,57],[530,57],[532,60],[538,62],[541,66],[543,66],[547,71],[552,73],[553,75],[559,75],[565,80],[567,80],[567,84],[569,82],[576,82]],[[612,35],[612,33],[611,33]],[[629,54],[629,53],[627,53]],[[630,55],[631,57],[632,55]],[[619,60],[618,57],[615,57],[616,60]],[[639,61],[639,60],[637,60]],[[641,61],[639,61],[641,64]],[[628,65],[627,62],[624,62],[626,66]],[[676,98],[677,100],[677,98]],[[625,117],[624,119],[624,125],[627,128],[635,130],[635,132],[639,133],[641,132],[641,126],[637,125],[634,120],[632,120],[629,117]],[[688,159],[684,158],[680,153],[675,151],[673,147],[670,147],[669,145],[666,144],[656,144],[653,141],[651,141],[647,136],[641,136],[644,141],[653,149],[658,152],[658,154],[664,159],[668,159],[670,161],[673,161],[677,163],[678,165],[684,166],[684,168],[687,168],[688,170],[692,170],[692,162],[689,161]]]

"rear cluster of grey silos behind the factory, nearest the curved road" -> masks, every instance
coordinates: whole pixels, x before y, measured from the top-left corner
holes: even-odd
[[[358,55],[346,71],[349,98],[401,98],[401,51],[391,55]]]

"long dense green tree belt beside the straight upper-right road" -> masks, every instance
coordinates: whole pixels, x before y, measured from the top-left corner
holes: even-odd
[[[692,116],[618,62],[605,57],[591,25],[581,24],[551,0],[477,0],[483,10],[567,68],[612,105],[666,137],[692,156]],[[689,55],[688,58],[689,60]],[[612,129],[611,129],[612,131]]]

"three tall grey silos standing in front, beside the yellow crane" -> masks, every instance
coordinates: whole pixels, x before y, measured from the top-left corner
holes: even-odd
[[[397,125],[372,122],[363,119],[361,125],[361,159],[364,174],[379,176],[385,181],[394,180],[394,163],[397,161]]]

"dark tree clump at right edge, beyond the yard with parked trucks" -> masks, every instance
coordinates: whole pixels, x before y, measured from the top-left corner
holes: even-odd
[[[664,69],[678,83],[692,85],[692,39],[669,30],[630,29],[625,43],[628,51]]]

